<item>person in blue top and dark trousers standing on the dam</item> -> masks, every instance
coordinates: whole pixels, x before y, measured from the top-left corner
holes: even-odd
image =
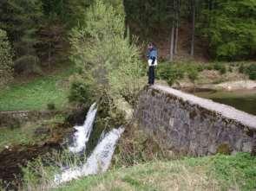
[[[157,66],[157,49],[153,43],[148,44],[148,85],[154,85],[154,67]]]

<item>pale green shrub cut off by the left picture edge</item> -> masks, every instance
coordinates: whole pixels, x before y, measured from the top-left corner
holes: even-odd
[[[7,34],[0,29],[0,86],[13,78],[13,55]]]

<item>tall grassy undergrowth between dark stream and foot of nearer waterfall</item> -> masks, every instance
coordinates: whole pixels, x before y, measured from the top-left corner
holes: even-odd
[[[69,150],[55,151],[28,162],[23,167],[23,190],[39,191],[56,187],[57,175],[86,162],[86,154],[74,155]]]

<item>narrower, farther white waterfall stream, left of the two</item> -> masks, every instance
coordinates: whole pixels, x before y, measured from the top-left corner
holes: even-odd
[[[93,129],[96,112],[96,103],[94,103],[89,108],[84,124],[82,124],[82,126],[74,127],[76,130],[74,135],[74,146],[69,147],[70,152],[79,153],[86,149],[86,143],[88,143],[90,133]]]

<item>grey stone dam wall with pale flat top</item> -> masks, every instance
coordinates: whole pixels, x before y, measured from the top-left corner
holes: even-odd
[[[218,152],[255,155],[256,116],[210,99],[167,86],[150,86],[141,92],[135,118],[169,150],[191,156]]]

